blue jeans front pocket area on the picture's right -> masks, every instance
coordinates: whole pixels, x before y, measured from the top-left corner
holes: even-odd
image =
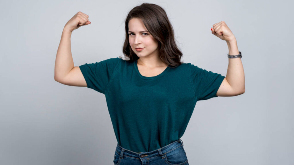
[[[169,165],[184,165],[188,164],[188,159],[183,149],[183,146],[174,149],[165,154],[166,163]]]

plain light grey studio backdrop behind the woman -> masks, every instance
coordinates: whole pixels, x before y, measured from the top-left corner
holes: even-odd
[[[124,19],[143,2],[168,14],[182,61],[226,76],[225,21],[237,39],[245,93],[198,101],[183,140],[189,164],[294,164],[293,2],[1,1],[1,165],[113,164],[116,137],[105,95],[54,80],[61,33],[78,11],[74,65],[122,53]]]

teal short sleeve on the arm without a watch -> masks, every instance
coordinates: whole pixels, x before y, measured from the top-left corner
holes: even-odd
[[[80,65],[79,67],[86,80],[87,87],[104,94],[111,80],[111,75],[120,60],[121,59],[117,57],[96,63]]]

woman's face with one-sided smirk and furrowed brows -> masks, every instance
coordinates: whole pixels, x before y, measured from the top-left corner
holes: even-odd
[[[128,23],[129,43],[138,57],[159,55],[158,42],[147,31],[140,18],[132,18]],[[141,51],[136,48],[143,48]]]

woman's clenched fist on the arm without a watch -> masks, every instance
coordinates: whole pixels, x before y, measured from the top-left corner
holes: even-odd
[[[87,14],[79,11],[65,24],[64,28],[72,32],[81,26],[90,24],[91,22],[88,18],[89,16]]]

